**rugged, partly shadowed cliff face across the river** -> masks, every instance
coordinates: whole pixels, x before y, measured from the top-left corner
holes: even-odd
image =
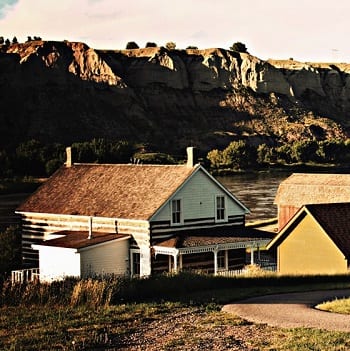
[[[93,137],[162,151],[345,138],[350,64],[262,61],[223,49],[97,51],[33,41],[0,53],[0,146]]]

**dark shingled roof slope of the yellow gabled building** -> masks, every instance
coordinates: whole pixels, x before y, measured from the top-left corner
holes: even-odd
[[[343,254],[350,258],[350,203],[306,205]]]

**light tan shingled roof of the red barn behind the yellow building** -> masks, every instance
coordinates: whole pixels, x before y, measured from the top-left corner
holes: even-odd
[[[275,203],[306,204],[350,202],[350,174],[295,173],[281,182]]]

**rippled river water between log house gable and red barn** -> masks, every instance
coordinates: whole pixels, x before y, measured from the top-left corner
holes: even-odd
[[[247,220],[261,220],[277,216],[273,204],[277,188],[289,173],[235,174],[216,177],[238,200],[251,211]]]

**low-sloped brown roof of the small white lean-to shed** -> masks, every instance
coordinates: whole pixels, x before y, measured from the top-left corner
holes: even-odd
[[[129,235],[115,234],[115,233],[93,233],[92,238],[88,239],[89,233],[86,231],[68,231],[64,230],[54,234],[63,235],[60,238],[43,241],[40,245],[55,246],[71,249],[82,249],[107,241],[116,239],[129,238]]]

